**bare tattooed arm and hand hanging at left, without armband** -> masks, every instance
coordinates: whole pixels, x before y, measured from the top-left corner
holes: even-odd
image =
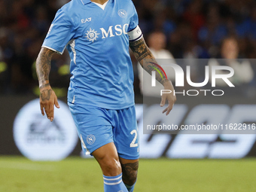
[[[59,108],[56,94],[51,89],[49,81],[50,61],[53,53],[55,53],[53,50],[42,47],[35,64],[40,89],[41,114],[44,115],[45,111],[50,121],[53,121],[54,105]]]

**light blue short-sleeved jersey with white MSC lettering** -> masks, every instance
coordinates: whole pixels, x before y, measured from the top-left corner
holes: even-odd
[[[122,109],[134,105],[129,41],[140,38],[131,0],[72,0],[56,13],[42,47],[69,50],[69,102]]]

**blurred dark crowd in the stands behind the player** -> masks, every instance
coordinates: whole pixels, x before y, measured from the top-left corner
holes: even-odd
[[[69,0],[0,0],[0,94],[38,93],[35,59],[56,11],[66,2]],[[256,65],[249,60],[256,59],[254,0],[133,2],[139,14],[139,26],[157,58],[209,59],[206,65],[231,66],[235,70],[236,86],[246,84],[255,90]],[[217,58],[234,62],[218,62]],[[139,80],[140,69],[134,57],[133,65],[135,91],[140,94],[142,79]],[[197,62],[187,65],[191,66],[191,79],[202,81],[205,66]],[[66,96],[69,86],[66,52],[53,57],[50,80],[57,94]]]

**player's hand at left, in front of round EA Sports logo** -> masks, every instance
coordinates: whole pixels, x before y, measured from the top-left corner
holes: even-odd
[[[54,118],[54,105],[59,108],[58,99],[56,94],[51,89],[50,85],[40,89],[40,107],[41,114],[44,116],[44,111],[50,121]]]

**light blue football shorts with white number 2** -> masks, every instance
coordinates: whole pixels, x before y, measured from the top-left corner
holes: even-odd
[[[114,142],[119,157],[139,159],[139,135],[136,111],[130,108],[111,110],[68,102],[78,129],[84,154]]]

